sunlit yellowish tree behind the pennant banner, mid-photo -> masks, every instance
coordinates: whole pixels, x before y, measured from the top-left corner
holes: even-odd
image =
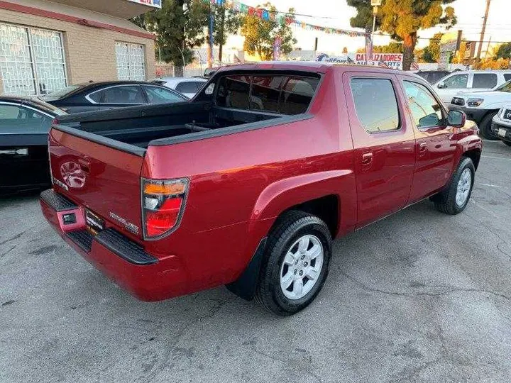
[[[277,14],[277,9],[271,3],[263,4],[262,8],[274,15]],[[288,13],[286,17],[294,21],[295,9],[290,8]],[[261,60],[272,60],[273,43],[277,36],[280,37],[280,51],[284,55],[288,55],[292,51],[293,45],[297,43],[297,40],[293,38],[291,27],[287,23],[271,18],[263,20],[257,15],[247,15],[243,18],[241,35],[245,37],[243,49],[251,55],[258,53]]]

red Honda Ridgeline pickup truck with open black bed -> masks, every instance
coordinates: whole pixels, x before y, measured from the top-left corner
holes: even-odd
[[[290,315],[322,289],[332,238],[428,197],[463,211],[477,133],[407,72],[237,65],[192,101],[59,117],[40,204],[139,299],[226,284]]]

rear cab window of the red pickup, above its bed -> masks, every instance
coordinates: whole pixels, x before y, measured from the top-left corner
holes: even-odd
[[[305,113],[319,78],[278,75],[231,75],[221,77],[216,105],[226,108]]]

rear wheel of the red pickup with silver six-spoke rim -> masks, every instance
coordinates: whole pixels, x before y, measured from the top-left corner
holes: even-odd
[[[284,213],[268,237],[255,300],[279,316],[304,309],[322,289],[330,257],[324,221],[303,211]]]

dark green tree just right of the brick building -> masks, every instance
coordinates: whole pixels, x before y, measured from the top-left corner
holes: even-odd
[[[172,62],[176,75],[193,60],[192,48],[206,40],[209,6],[201,0],[163,0],[155,9],[132,21],[155,34],[155,54],[158,60]]]

